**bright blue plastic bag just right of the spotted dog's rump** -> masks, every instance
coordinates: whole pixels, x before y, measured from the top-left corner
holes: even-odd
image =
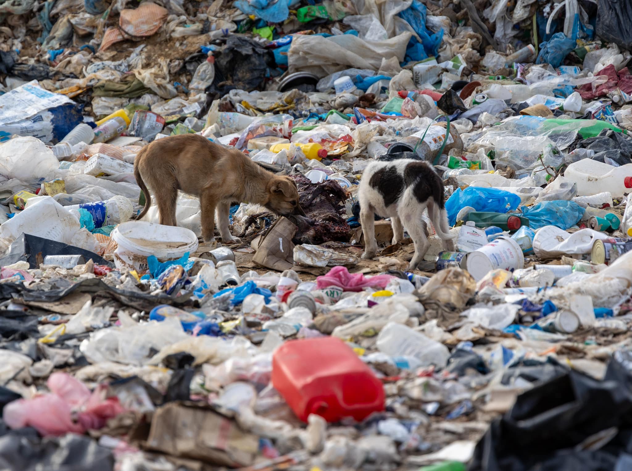
[[[456,215],[465,206],[471,206],[477,211],[506,213],[518,208],[518,204],[520,204],[520,196],[497,188],[467,187],[465,190],[457,188],[446,201],[447,220],[454,225]]]

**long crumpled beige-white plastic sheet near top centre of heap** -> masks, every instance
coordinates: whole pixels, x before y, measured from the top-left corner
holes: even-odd
[[[377,71],[384,57],[404,60],[410,37],[410,32],[384,41],[364,41],[353,34],[295,35],[288,51],[289,72],[304,70],[325,77],[349,67]]]

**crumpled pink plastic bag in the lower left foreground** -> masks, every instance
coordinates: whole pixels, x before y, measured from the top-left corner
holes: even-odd
[[[51,394],[4,406],[3,419],[11,429],[31,426],[43,436],[83,434],[102,428],[107,419],[125,411],[118,398],[106,398],[106,385],[91,393],[85,384],[62,372],[53,373],[46,384]]]

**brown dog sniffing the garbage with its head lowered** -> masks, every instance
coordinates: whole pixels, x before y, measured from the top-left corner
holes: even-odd
[[[197,134],[164,137],[142,148],[134,161],[134,177],[146,201],[138,219],[151,206],[147,187],[157,199],[160,223],[164,225],[177,225],[178,190],[200,198],[206,242],[215,240],[216,208],[222,241],[239,241],[228,228],[233,201],[261,204],[277,215],[305,215],[293,179],[274,175],[237,149],[213,144]]]

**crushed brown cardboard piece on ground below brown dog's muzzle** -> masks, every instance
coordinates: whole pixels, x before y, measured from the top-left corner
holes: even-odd
[[[288,218],[278,218],[264,237],[257,241],[258,244],[253,246],[257,253],[253,256],[252,261],[257,265],[279,272],[292,268],[294,265],[292,238],[297,230],[298,227]]]

